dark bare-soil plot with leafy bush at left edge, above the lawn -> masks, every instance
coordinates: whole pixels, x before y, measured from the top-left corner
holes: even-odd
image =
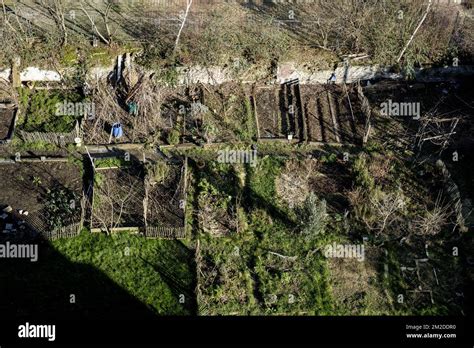
[[[67,161],[1,163],[2,236],[55,239],[79,234],[81,170]]]

